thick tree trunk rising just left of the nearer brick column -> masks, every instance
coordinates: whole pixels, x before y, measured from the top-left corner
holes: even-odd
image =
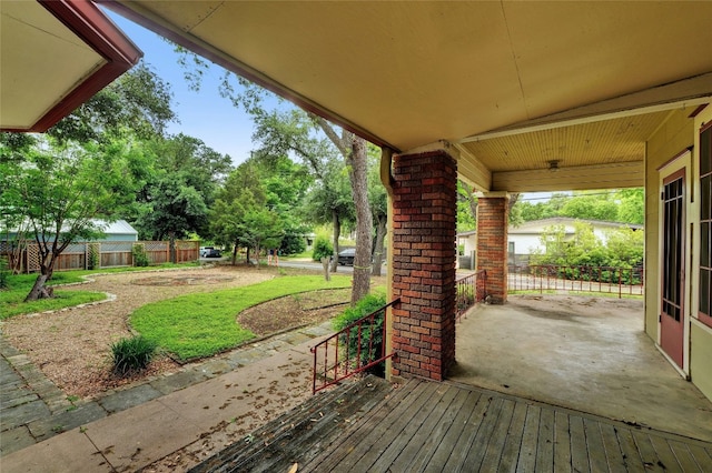
[[[372,271],[374,221],[368,204],[368,162],[364,139],[352,135],[352,152],[347,162],[350,164],[348,174],[356,204],[356,254],[354,256],[354,286],[352,288],[352,305],[355,305],[370,290]]]

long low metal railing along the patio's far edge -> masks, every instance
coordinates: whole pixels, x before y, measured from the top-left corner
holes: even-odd
[[[508,291],[572,291],[643,295],[644,271],[636,268],[508,266]]]

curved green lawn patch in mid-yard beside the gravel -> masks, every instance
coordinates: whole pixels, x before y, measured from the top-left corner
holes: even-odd
[[[319,289],[350,285],[350,276],[279,276],[245,288],[186,294],[144,305],[130,316],[131,326],[180,360],[210,356],[256,335],[238,325],[237,314],[273,299]]]

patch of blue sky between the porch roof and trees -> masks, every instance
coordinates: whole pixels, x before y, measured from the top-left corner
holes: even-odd
[[[253,122],[241,109],[233,107],[228,99],[218,93],[222,69],[212,64],[204,77],[200,91],[192,91],[184,79],[184,70],[170,43],[119,14],[111,11],[107,13],[144,51],[144,61],[170,84],[172,110],[180,122],[171,123],[168,132],[199,138],[219,153],[229,154],[236,164],[249,158],[250,150],[255,148],[251,143]]]

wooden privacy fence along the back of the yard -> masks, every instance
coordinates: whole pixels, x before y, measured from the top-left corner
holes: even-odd
[[[32,273],[40,270],[40,253],[37,243],[26,243],[20,251],[12,251],[12,242],[0,242],[0,255],[20,259],[20,270]],[[149,264],[170,261],[167,241],[102,241],[71,243],[57,259],[55,271],[96,270],[134,265],[134,249],[142,249]],[[199,241],[177,241],[176,262],[185,263],[199,259]],[[140,250],[139,250],[140,251]]]

